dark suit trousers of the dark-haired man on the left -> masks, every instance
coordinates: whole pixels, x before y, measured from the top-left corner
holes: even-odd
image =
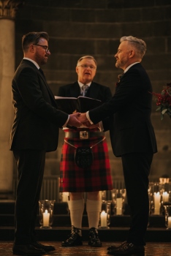
[[[45,151],[14,150],[18,166],[15,202],[15,244],[36,241],[35,225],[45,168]]]

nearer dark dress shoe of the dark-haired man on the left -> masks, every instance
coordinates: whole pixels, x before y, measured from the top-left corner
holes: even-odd
[[[12,247],[13,255],[39,256],[45,255],[45,250],[36,249],[31,244],[14,244]]]

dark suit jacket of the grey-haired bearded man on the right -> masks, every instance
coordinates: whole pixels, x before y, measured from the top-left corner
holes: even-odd
[[[151,124],[151,81],[141,64],[134,64],[116,86],[113,98],[89,111],[91,121],[104,121],[110,129],[116,157],[134,152],[156,153],[156,138]]]

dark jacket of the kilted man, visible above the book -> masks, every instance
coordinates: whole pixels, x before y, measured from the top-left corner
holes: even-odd
[[[68,84],[66,86],[61,86],[58,90],[58,96],[61,97],[78,97],[80,96],[80,86],[77,82]],[[91,83],[86,97],[93,99],[99,99],[102,102],[106,102],[108,99],[112,98],[112,93],[110,88],[107,86],[102,86],[99,83]]]

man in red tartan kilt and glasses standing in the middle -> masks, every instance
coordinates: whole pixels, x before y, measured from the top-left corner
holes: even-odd
[[[77,61],[77,82],[61,86],[60,97],[79,97],[80,95],[106,102],[112,97],[107,86],[95,83],[96,60],[93,56],[83,56]],[[86,87],[86,88],[84,88]],[[107,142],[104,132],[95,127],[64,129],[64,145],[60,165],[60,192],[69,192],[69,211],[72,231],[62,246],[82,245],[81,226],[84,211],[83,193],[87,192],[86,211],[88,214],[88,245],[102,246],[98,236],[99,212],[102,200],[99,191],[113,189],[110,173]],[[75,147],[93,146],[94,161],[90,167],[79,167],[75,163]]]

